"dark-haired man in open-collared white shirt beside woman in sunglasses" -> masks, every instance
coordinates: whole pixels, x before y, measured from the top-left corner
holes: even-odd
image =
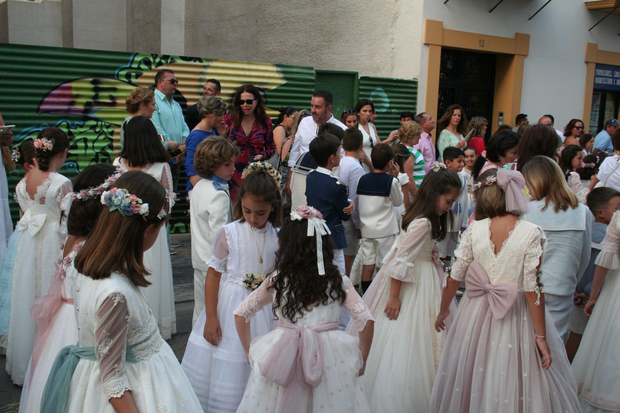
[[[310,142],[316,138],[319,126],[321,123],[334,123],[347,130],[347,127],[334,118],[332,115],[332,104],[334,103],[334,96],[328,91],[316,91],[312,95],[310,100],[310,112],[312,117],[306,117],[299,122],[297,133],[293,140],[293,146],[291,147],[290,156],[288,158],[288,177],[286,177],[285,190],[289,196],[291,196],[291,167],[295,165],[299,157],[308,152],[310,149]]]

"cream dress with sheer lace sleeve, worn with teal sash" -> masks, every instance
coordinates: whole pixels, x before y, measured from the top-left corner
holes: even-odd
[[[129,278],[112,273],[93,280],[79,274],[74,300],[79,344],[94,346],[97,360],[79,360],[68,413],[113,413],[108,399],[126,390],[131,390],[139,412],[202,412],[143,292]],[[127,344],[138,343],[133,347],[138,361],[126,362]]]

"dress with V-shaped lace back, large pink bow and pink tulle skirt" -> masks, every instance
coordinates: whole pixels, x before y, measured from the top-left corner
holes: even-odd
[[[496,255],[490,220],[475,221],[449,277],[466,282],[437,370],[431,412],[580,412],[577,383],[545,311],[552,363],[542,368],[524,291],[535,291],[542,230],[517,221]],[[447,278],[447,275],[446,275]]]

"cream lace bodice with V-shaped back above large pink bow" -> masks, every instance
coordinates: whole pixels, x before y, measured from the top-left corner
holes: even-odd
[[[515,282],[524,291],[535,291],[536,267],[546,240],[544,232],[528,221],[517,221],[499,254],[495,255],[490,223],[489,218],[474,221],[463,233],[461,244],[454,252],[456,262],[450,277],[463,281],[469,264],[476,260],[487,274],[490,284]]]

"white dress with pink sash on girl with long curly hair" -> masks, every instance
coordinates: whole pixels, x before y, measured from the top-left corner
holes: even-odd
[[[347,296],[343,307],[357,331],[373,317],[351,281],[342,276]],[[267,304],[274,292],[267,278],[239,304],[234,314],[250,318]],[[338,329],[340,303],[314,306],[292,323],[279,311],[275,330],[252,340],[252,373],[237,412],[308,413],[370,412],[360,387],[362,366],[358,337]]]

